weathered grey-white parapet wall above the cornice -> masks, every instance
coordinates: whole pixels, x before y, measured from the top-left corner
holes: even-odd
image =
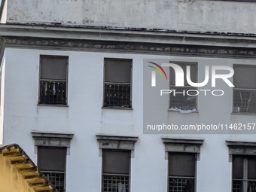
[[[8,23],[255,33],[254,2],[9,0]]]

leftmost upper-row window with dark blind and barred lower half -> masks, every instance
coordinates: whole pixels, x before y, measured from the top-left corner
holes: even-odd
[[[40,56],[39,104],[67,105],[67,56]]]

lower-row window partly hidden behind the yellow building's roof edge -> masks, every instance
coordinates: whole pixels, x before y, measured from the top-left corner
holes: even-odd
[[[66,191],[66,148],[38,147],[38,169],[59,192]]]

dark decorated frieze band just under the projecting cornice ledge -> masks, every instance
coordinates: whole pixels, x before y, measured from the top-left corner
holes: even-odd
[[[215,56],[229,58],[254,58],[255,48],[209,47],[180,44],[143,44],[114,41],[79,41],[66,39],[6,37],[5,47],[36,47],[52,50],[83,50],[114,53],[151,53],[159,55]]]

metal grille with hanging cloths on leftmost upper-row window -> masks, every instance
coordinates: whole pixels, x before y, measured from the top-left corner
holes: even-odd
[[[66,105],[66,81],[40,81],[41,104]]]

